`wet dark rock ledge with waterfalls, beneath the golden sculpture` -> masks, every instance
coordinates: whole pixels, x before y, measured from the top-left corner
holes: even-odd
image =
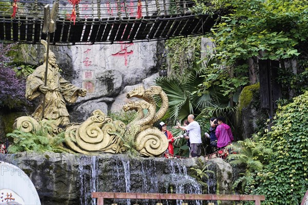
[[[208,187],[202,186],[190,168],[203,169],[204,158],[128,158],[125,155],[73,155],[20,153],[0,155],[0,161],[21,168],[32,180],[44,205],[92,204],[91,192],[231,194],[233,169],[220,158],[208,161]],[[112,201],[106,201],[111,204]],[[115,201],[130,204],[130,201]],[[131,201],[135,202],[135,201]],[[155,200],[138,201],[156,204]],[[164,202],[165,204],[166,202]],[[180,201],[168,201],[180,204]],[[196,201],[194,204],[201,204]],[[204,204],[204,202],[203,202]],[[232,204],[225,201],[221,204]]]

